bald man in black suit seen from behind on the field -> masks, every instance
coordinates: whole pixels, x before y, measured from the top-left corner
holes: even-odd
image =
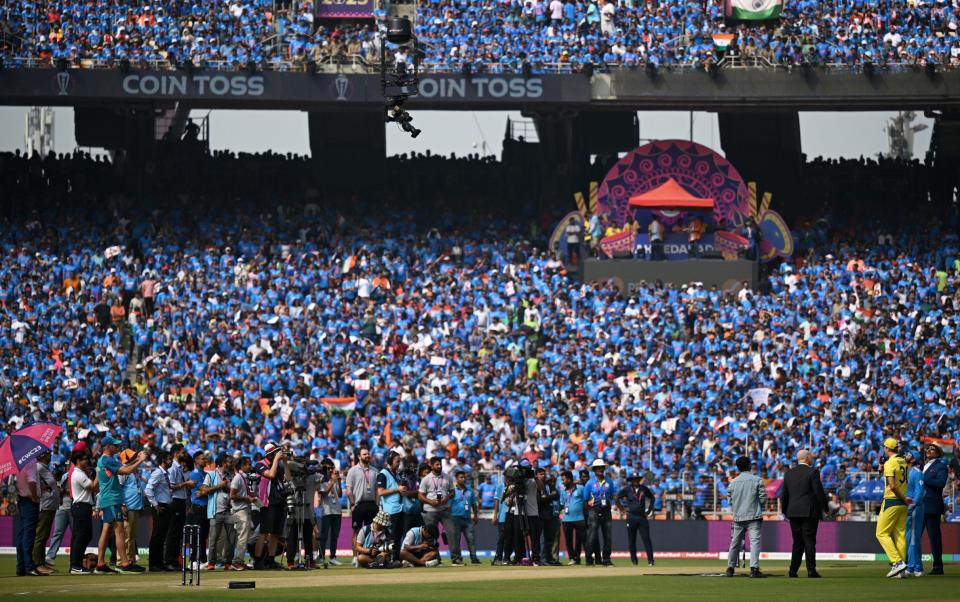
[[[820,473],[810,466],[812,455],[802,449],[797,453],[797,465],[783,477],[783,515],[790,520],[793,534],[793,555],[790,557],[790,577],[797,576],[800,559],[807,557],[807,577],[819,578],[817,572],[817,526],[827,510],[827,496],[823,492]]]

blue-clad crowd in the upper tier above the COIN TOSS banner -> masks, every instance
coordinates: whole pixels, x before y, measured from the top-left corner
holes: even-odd
[[[738,23],[724,18],[721,0],[424,0],[416,34],[423,64],[436,71],[706,65],[721,54],[751,65],[955,66],[957,7],[958,0],[797,0],[784,2],[778,20]],[[0,23],[3,60],[14,66],[124,58],[173,66],[189,58],[227,69],[249,61],[288,69],[332,58],[379,60],[372,20],[318,19],[310,0],[4,0]],[[720,33],[734,35],[725,51],[713,40]]]

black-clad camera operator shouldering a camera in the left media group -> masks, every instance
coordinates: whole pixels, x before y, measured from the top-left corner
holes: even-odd
[[[287,493],[284,487],[283,459],[286,449],[273,441],[263,448],[264,457],[254,471],[260,475],[258,488],[261,502],[265,502],[260,509],[260,537],[257,538],[254,569],[277,570],[280,566],[275,560],[277,543],[283,535],[287,519]],[[239,546],[240,541],[237,542]]]

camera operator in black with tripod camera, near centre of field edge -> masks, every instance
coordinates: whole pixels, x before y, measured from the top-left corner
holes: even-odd
[[[512,470],[511,470],[512,469]],[[507,523],[504,528],[503,560],[519,564],[527,556],[527,536],[530,537],[530,562],[540,564],[540,516],[537,495],[540,483],[526,458],[514,467],[504,470],[507,479],[503,503],[507,504]],[[514,556],[511,560],[511,556]]]

